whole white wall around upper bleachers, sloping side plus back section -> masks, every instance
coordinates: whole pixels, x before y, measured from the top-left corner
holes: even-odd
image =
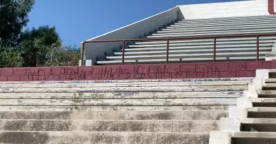
[[[164,28],[165,25],[180,19],[213,19],[222,17],[247,17],[275,14],[275,0],[249,0],[226,3],[204,3],[194,5],[176,6],[152,17],[137,21],[123,28],[113,30],[99,37],[87,41],[111,39],[138,39],[150,32]],[[268,4],[270,3],[270,4]],[[82,44],[81,44],[82,45]],[[86,43],[84,46],[85,59],[91,60],[92,65],[97,62],[97,57],[112,54],[118,50],[122,43]]]

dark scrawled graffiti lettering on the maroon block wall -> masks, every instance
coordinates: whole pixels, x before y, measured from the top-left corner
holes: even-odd
[[[23,72],[22,72],[23,73]],[[26,81],[73,81],[119,79],[176,79],[219,77],[217,65],[135,65],[90,68],[25,69]]]

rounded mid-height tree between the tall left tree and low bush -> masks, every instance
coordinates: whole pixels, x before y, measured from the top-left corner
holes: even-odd
[[[20,50],[25,67],[46,65],[50,52],[61,46],[61,39],[55,27],[50,28],[48,25],[24,31],[21,39]]]

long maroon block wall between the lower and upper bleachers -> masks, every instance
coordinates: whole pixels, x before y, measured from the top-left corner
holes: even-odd
[[[0,81],[78,81],[254,77],[256,70],[273,68],[276,68],[276,61],[3,68],[0,69]]]

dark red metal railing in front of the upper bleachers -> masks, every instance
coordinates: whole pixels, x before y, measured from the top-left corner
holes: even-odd
[[[121,64],[124,65],[125,59],[125,47],[126,41],[166,41],[167,50],[166,50],[166,63],[168,63],[168,54],[169,54],[169,43],[170,41],[175,40],[191,40],[191,39],[214,39],[214,55],[213,61],[216,61],[216,47],[217,47],[217,39],[219,38],[237,38],[237,37],[256,37],[256,51],[257,51],[257,61],[259,61],[259,37],[272,37],[276,36],[275,32],[271,33],[259,33],[259,34],[220,34],[220,35],[210,35],[210,36],[196,36],[196,37],[168,37],[168,38],[157,38],[157,39],[119,39],[119,40],[102,40],[102,41],[84,41],[82,43],[82,51],[81,51],[81,65],[83,65],[83,55],[84,55],[84,46],[86,43],[108,43],[108,42],[123,42],[122,48],[122,61]]]

